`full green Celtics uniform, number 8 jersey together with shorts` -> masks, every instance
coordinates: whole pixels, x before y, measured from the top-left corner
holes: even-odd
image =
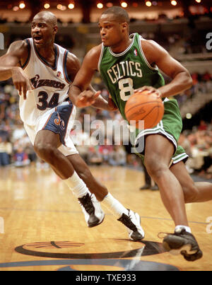
[[[98,69],[105,85],[107,86],[112,100],[119,108],[122,117],[126,120],[124,108],[126,101],[134,94],[134,90],[143,86],[159,88],[165,85],[163,76],[158,67],[151,66],[141,47],[142,37],[135,33],[131,36],[131,45],[120,54],[114,54],[110,47],[104,47],[98,64]],[[131,144],[134,146],[134,153],[143,158],[145,155],[144,137],[149,134],[161,134],[165,136],[175,147],[171,163],[178,163],[187,159],[187,153],[177,141],[182,130],[182,118],[179,112],[177,100],[165,98],[163,119],[157,126],[151,129],[135,129],[130,132]],[[141,144],[140,144],[141,142]],[[138,147],[139,146],[139,147]]]

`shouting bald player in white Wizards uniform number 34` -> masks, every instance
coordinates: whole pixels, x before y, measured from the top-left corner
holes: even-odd
[[[13,42],[0,57],[0,80],[13,79],[20,95],[20,117],[35,152],[76,195],[88,226],[97,226],[105,217],[98,199],[124,223],[131,240],[141,240],[144,232],[139,214],[125,209],[93,177],[71,141],[76,108],[68,92],[80,63],[73,54],[54,43],[57,29],[53,13],[37,13],[32,22],[32,37]],[[101,96],[96,101],[98,107],[114,108]]]

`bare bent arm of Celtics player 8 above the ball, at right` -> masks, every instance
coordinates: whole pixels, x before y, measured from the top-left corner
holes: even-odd
[[[141,40],[143,52],[151,66],[158,66],[172,81],[158,88],[161,97],[169,97],[182,93],[192,86],[192,77],[189,71],[153,40]],[[143,86],[144,89],[148,86]]]

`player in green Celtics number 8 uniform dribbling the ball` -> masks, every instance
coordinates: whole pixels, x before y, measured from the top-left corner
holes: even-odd
[[[69,97],[77,107],[91,104],[103,107],[103,102],[95,101],[99,93],[86,91],[98,70],[112,97],[108,104],[113,102],[124,119],[126,101],[135,91],[148,90],[163,98],[163,120],[153,129],[138,132],[134,144],[145,137],[144,151],[139,155],[144,155],[146,169],[160,188],[163,204],[175,222],[174,233],[163,239],[165,249],[173,254],[181,253],[188,261],[198,260],[202,252],[189,228],[185,203],[211,200],[212,184],[194,183],[187,173],[184,165],[187,154],[177,145],[182,129],[179,107],[176,100],[168,99],[190,88],[192,78],[156,42],[144,40],[136,33],[129,36],[129,16],[123,8],[114,6],[104,11],[99,27],[102,45],[86,54]],[[159,69],[172,78],[167,85]]]

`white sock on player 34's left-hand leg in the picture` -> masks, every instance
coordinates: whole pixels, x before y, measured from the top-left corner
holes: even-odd
[[[70,178],[63,181],[77,198],[81,198],[87,193],[90,193],[88,187],[86,186],[86,183],[78,176],[76,171],[74,171],[73,175]]]

